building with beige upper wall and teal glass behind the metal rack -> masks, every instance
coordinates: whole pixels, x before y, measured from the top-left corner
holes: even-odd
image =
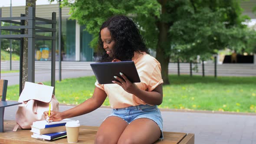
[[[2,17],[10,17],[10,7],[1,7]],[[46,10],[47,9],[47,10]],[[56,61],[59,60],[59,4],[47,4],[36,6],[36,17],[51,19],[52,12],[56,12]],[[25,13],[25,6],[12,7],[12,16],[18,17],[20,13]],[[87,61],[92,62],[94,59],[94,49],[91,48],[90,42],[92,35],[85,31],[85,26],[81,26],[76,20],[69,19],[69,8],[62,8],[62,35],[61,35],[61,55],[62,61]],[[2,26],[4,23],[2,22]],[[51,25],[40,25],[51,27]],[[51,33],[39,33],[40,35],[50,36]],[[9,43],[7,41],[7,43]],[[3,41],[1,49],[4,48]],[[19,45],[17,45],[19,46]],[[20,49],[20,48],[18,48]],[[35,59],[38,61],[51,60],[52,44],[50,40],[36,40]]]

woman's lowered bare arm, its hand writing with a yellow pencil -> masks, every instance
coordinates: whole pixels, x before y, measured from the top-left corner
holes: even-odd
[[[99,108],[105,101],[106,97],[107,97],[107,94],[102,89],[95,87],[91,98],[75,106],[74,108],[70,108],[69,110],[66,110],[66,111],[62,111],[62,112],[51,111],[50,112],[51,115],[49,116],[49,118],[50,120],[53,120],[53,121],[60,121],[64,118],[72,118],[75,116],[87,114]],[[47,117],[48,111],[45,111],[44,115],[45,117]]]

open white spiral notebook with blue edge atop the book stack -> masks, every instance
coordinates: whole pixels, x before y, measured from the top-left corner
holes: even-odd
[[[39,128],[39,129],[59,127],[59,126],[65,125],[66,122],[68,122],[68,121],[75,121],[75,120],[66,118],[66,119],[63,119],[62,121],[53,121],[53,122],[47,122],[45,120],[43,120],[43,121],[35,121],[35,122],[33,122],[32,127]]]

